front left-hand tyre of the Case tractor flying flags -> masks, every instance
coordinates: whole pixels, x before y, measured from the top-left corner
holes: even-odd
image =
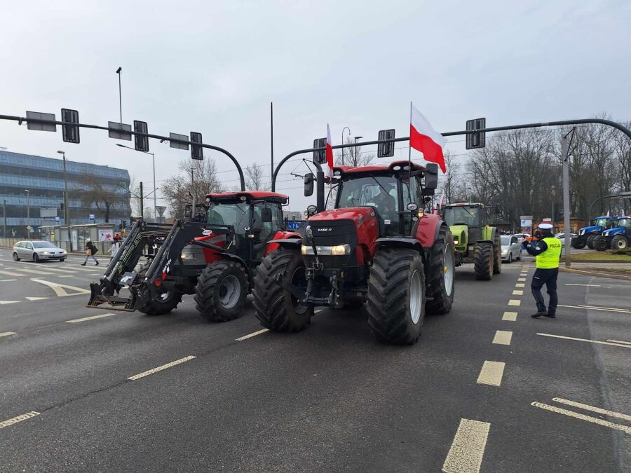
[[[299,305],[294,296],[276,282],[276,275],[302,285],[304,262],[297,249],[281,247],[265,256],[257,266],[252,288],[257,319],[263,327],[273,331],[306,329],[313,317],[313,307]]]

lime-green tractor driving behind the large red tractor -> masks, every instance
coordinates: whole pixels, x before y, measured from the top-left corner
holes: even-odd
[[[456,266],[473,263],[475,279],[488,281],[502,272],[502,246],[499,231],[490,226],[489,207],[480,203],[447,204],[442,219],[452,231],[456,246]]]

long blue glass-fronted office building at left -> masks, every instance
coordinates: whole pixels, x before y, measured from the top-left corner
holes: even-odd
[[[120,224],[121,220],[129,219],[127,170],[66,160],[66,174],[72,225],[105,222],[104,203],[89,201],[95,185],[99,186],[101,194],[109,195],[107,200],[112,202],[109,222]],[[7,234],[3,236],[27,236],[29,222],[34,233],[41,225],[66,224],[63,160],[0,150],[0,205],[6,212],[0,219],[0,231],[6,219]]]

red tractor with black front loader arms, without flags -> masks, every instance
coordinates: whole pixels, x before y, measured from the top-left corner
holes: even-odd
[[[207,320],[233,320],[243,312],[255,267],[273,249],[267,243],[301,238],[285,231],[287,200],[272,192],[215,193],[198,206],[203,211],[195,216],[187,211],[185,221],[140,219],[100,282],[90,285],[88,307],[161,315],[175,309],[184,294],[195,294],[196,308]]]

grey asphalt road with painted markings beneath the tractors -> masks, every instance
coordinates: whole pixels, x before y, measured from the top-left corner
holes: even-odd
[[[465,266],[452,313],[395,347],[364,310],[238,340],[262,329],[251,303],[223,324],[191,296],[87,309],[105,265],[80,262],[0,249],[2,472],[630,469],[631,282],[562,273],[557,319],[534,320],[529,259]]]

